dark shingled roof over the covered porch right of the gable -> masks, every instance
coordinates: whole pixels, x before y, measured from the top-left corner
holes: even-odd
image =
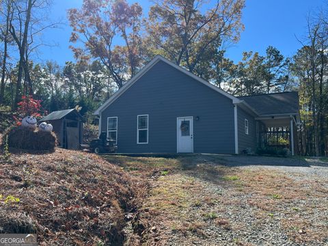
[[[239,96],[241,100],[254,109],[260,116],[266,115],[298,115],[298,92],[279,92],[255,96]]]

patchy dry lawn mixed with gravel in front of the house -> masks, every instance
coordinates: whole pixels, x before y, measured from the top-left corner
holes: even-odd
[[[104,158],[148,184],[127,230],[143,245],[328,244],[323,176],[228,167],[215,155]]]

